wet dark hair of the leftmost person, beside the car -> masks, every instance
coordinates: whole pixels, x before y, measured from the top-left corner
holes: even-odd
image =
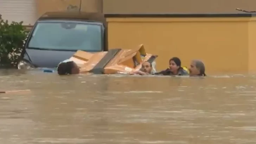
[[[72,74],[72,68],[74,67],[73,61],[68,61],[64,63],[60,63],[58,65],[57,71],[59,75],[67,75]]]

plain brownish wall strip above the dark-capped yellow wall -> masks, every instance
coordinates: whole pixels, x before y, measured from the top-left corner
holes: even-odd
[[[104,13],[237,13],[256,10],[256,0],[104,0]]]

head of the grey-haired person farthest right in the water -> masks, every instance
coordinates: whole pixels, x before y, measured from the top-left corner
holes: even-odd
[[[190,76],[206,76],[204,63],[200,60],[192,60],[188,70]]]

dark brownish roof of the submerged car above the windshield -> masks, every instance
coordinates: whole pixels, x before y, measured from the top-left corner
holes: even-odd
[[[104,14],[88,12],[46,12],[38,20],[80,20],[106,23]]]

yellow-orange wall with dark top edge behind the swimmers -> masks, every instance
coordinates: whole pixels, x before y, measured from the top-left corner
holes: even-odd
[[[183,66],[203,60],[206,72],[256,71],[254,18],[107,18],[109,48],[144,44],[159,55],[157,70],[171,57]]]

